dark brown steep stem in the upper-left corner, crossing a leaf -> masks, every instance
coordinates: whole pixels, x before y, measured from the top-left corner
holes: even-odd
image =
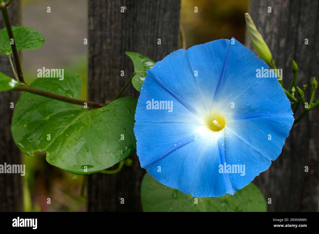
[[[19,81],[20,82],[24,82],[24,78],[23,78],[23,73],[22,73],[22,69],[21,69],[21,65],[20,65],[20,60],[19,60],[19,54],[18,54],[18,50],[16,47],[16,42],[14,40],[13,37],[13,32],[12,32],[12,28],[11,28],[11,24],[10,24],[10,20],[9,20],[9,16],[8,16],[8,11],[7,11],[7,4],[10,4],[11,2],[8,1],[7,3],[4,4],[3,1],[1,1],[1,12],[4,18],[4,23],[5,23],[5,27],[7,28],[8,31],[8,35],[10,40],[13,39],[13,44],[11,44],[11,49],[12,49],[12,54],[13,54],[13,58],[14,58],[14,62],[16,64],[16,68],[17,68],[17,74],[19,77]]]

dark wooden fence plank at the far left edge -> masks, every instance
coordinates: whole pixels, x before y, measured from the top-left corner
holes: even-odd
[[[20,25],[20,1],[13,1],[7,8],[11,26]],[[0,16],[0,28],[4,28],[4,20]],[[12,56],[13,60],[13,56]],[[6,55],[0,55],[0,71],[14,77]],[[0,164],[21,164],[20,150],[13,141],[10,127],[14,105],[19,98],[19,92],[0,93]],[[22,176],[20,174],[0,174],[0,212],[22,211]]]

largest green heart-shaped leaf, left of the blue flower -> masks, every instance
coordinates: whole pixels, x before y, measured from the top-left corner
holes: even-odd
[[[81,78],[64,70],[63,80],[37,78],[30,86],[79,99]],[[88,111],[84,106],[23,93],[14,108],[11,132],[20,150],[28,155],[46,151],[48,163],[65,171],[99,172],[135,149],[136,104],[136,99],[125,97]]]

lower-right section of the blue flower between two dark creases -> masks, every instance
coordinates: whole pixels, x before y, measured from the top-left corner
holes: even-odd
[[[293,116],[260,115],[227,125],[227,164],[245,165],[245,175],[234,174],[230,178],[234,191],[248,185],[259,173],[269,168],[271,160],[281,153],[293,121]]]

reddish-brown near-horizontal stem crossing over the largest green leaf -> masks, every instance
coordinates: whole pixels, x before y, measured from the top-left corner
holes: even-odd
[[[78,99],[73,99],[73,98],[68,98],[65,96],[61,96],[55,93],[50,93],[50,92],[46,92],[46,91],[42,91],[39,89],[34,89],[28,85],[25,86],[17,86],[13,89],[13,91],[25,91],[25,92],[29,92],[29,93],[33,93],[33,94],[37,94],[46,98],[51,98],[51,99],[56,99],[59,101],[63,101],[63,102],[69,102],[69,103],[73,103],[73,104],[77,104],[77,105],[84,105],[84,103],[86,102],[88,106],[92,106],[92,107],[102,107],[106,104],[104,103],[97,103],[97,102],[91,102],[91,101],[85,101],[85,100],[78,100]]]

